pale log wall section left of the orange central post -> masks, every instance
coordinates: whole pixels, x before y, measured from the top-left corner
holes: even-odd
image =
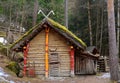
[[[35,68],[36,76],[45,75],[45,31],[41,31],[36,37],[30,41],[28,52],[28,68]]]

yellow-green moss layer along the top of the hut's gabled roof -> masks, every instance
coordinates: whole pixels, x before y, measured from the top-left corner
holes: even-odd
[[[67,35],[70,36],[69,38],[72,37],[75,40],[75,42],[80,44],[81,48],[86,47],[86,44],[80,38],[78,38],[76,35],[74,35],[71,31],[69,31],[65,26],[62,26],[61,24],[59,24],[59,23],[55,22],[54,20],[48,18],[48,19],[43,20],[42,22],[40,22],[39,24],[37,24],[33,28],[31,28],[28,32],[26,32],[23,36],[21,36],[18,40],[16,40],[11,45],[11,48],[18,48],[20,45],[17,45],[17,44],[21,44],[20,41],[25,41],[24,38],[27,38],[27,36],[34,33],[35,30],[37,30],[38,28],[41,28],[40,26],[42,26],[45,22],[49,23],[50,26],[52,25],[54,28],[62,30],[64,33],[66,33]],[[44,28],[44,27],[42,27],[42,28]]]

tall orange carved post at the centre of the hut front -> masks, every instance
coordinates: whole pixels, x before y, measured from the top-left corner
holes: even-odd
[[[49,28],[45,28],[45,77],[48,78],[48,69],[49,69],[49,64],[48,64],[48,40],[49,40]]]

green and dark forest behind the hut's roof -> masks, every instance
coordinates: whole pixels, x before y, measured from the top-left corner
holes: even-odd
[[[108,56],[107,0],[68,0],[68,29],[81,38],[87,46],[96,46],[102,56]],[[118,28],[118,1],[114,1],[115,26]],[[20,34],[39,23],[44,16],[65,25],[64,0],[0,0],[0,30],[9,32],[14,27]],[[24,29],[23,29],[24,28]],[[117,34],[116,34],[117,35]],[[9,41],[11,43],[11,41]]]

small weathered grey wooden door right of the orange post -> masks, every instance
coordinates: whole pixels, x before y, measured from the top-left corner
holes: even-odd
[[[58,53],[52,52],[49,55],[49,75],[59,76],[59,55]]]

